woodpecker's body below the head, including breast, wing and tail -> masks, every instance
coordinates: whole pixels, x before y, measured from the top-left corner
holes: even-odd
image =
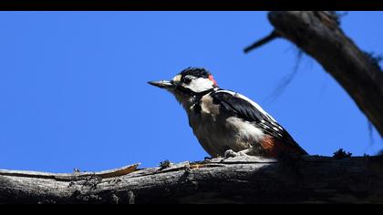
[[[212,157],[247,148],[269,157],[307,154],[262,107],[231,90],[217,89],[198,98],[188,116],[194,135]]]

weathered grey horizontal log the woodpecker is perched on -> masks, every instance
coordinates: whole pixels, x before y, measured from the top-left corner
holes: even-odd
[[[239,157],[73,180],[1,170],[0,203],[383,203],[382,163]]]

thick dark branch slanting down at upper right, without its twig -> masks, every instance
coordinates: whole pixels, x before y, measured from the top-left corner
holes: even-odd
[[[383,137],[383,72],[328,11],[273,11],[274,31],[314,57],[346,89]]]

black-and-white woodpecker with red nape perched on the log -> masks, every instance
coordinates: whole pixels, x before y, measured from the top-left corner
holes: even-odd
[[[189,126],[212,158],[307,155],[274,118],[248,97],[218,87],[207,69],[187,67],[171,80],[149,81],[185,109]]]

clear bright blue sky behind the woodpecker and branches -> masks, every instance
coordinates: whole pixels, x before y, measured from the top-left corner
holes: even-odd
[[[342,27],[382,54],[383,12],[349,12]],[[367,118],[309,56],[279,39],[243,54],[272,30],[266,12],[1,12],[0,169],[52,172],[207,154],[171,94],[147,84],[205,67],[220,87],[251,97],[310,154],[383,148]]]

